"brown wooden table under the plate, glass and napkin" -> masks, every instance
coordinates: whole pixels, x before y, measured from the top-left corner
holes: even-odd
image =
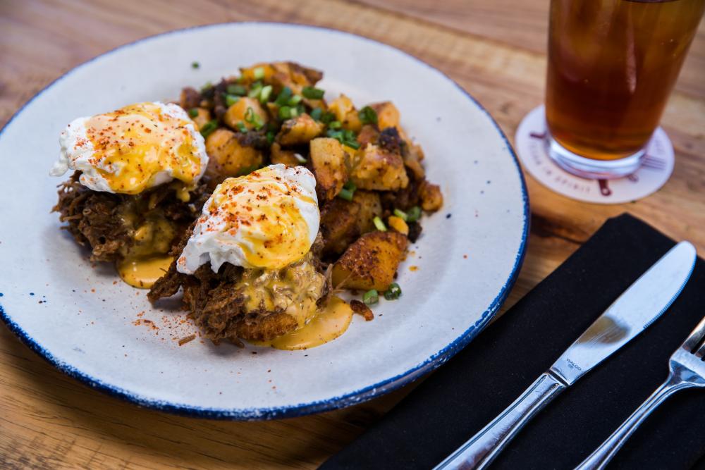
[[[0,124],[54,78],[125,42],[190,25],[273,20],[338,28],[418,56],[477,97],[511,139],[543,100],[547,8],[547,0],[2,1]],[[623,211],[705,253],[705,23],[663,127],[675,145],[675,171],[639,202],[574,202],[527,177],[532,233],[505,308]],[[183,418],[139,409],[63,376],[2,326],[0,467],[312,468],[407,391],[283,421]]]

